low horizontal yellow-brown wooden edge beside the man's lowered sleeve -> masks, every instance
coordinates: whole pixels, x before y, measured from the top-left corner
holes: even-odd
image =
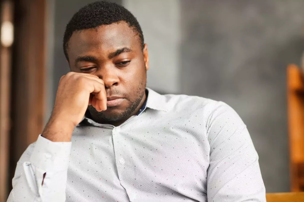
[[[267,202],[303,202],[304,192],[268,193]]]

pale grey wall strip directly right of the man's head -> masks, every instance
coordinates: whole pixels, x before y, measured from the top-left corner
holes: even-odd
[[[123,0],[136,16],[148,45],[147,86],[158,92],[180,92],[181,10],[176,0]]]

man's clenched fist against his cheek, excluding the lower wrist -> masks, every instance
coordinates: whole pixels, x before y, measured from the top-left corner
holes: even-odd
[[[60,78],[51,119],[68,122],[75,127],[88,105],[97,111],[107,109],[104,82],[94,75],[69,72]]]

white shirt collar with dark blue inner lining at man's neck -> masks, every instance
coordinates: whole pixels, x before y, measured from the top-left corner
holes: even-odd
[[[146,110],[146,108],[159,110],[159,111],[168,111],[168,106],[166,102],[166,98],[164,95],[161,95],[155,91],[153,91],[150,88],[146,88],[146,101],[143,103],[143,106],[140,108],[140,111],[136,114],[136,116],[139,116],[143,111]],[[90,114],[88,111],[85,112],[85,116],[82,118],[78,126],[84,122],[88,121],[90,119]]]

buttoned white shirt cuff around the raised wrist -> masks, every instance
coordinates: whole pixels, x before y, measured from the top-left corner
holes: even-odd
[[[30,162],[44,171],[66,171],[71,146],[71,142],[52,142],[40,134],[30,157]]]

